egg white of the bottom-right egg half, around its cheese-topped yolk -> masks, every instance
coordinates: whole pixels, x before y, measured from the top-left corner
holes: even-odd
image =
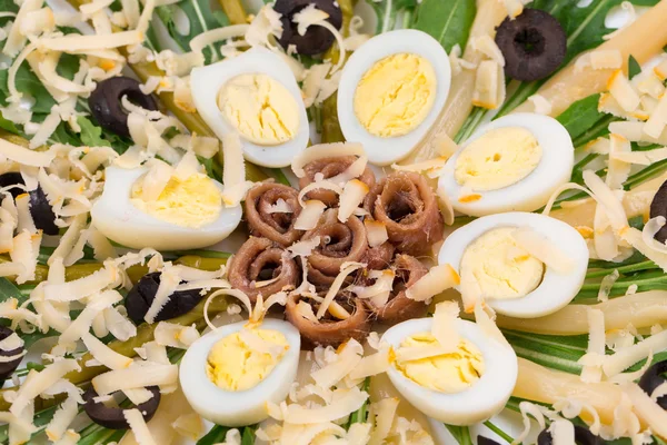
[[[406,337],[430,332],[432,323],[432,317],[399,323],[385,333],[382,340],[397,349]],[[458,334],[475,344],[484,357],[485,373],[469,388],[454,394],[439,393],[412,382],[395,366],[387,374],[396,389],[427,416],[449,425],[471,425],[504,408],[517,382],[517,356],[510,347],[487,336],[477,324],[461,319],[455,323]]]

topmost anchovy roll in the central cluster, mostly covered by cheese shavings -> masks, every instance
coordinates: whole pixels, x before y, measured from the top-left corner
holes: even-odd
[[[329,179],[340,175],[356,160],[356,156],[339,156],[335,158],[313,160],[303,167],[306,176],[299,179],[299,187],[303,188],[309,184],[315,182],[315,175],[317,174],[321,174],[323,179]],[[369,188],[376,184],[375,175],[368,167],[366,167],[361,176],[357,179],[366,184]],[[306,196],[308,199],[320,200],[329,207],[338,205],[338,195],[331,190],[316,189],[309,191]]]

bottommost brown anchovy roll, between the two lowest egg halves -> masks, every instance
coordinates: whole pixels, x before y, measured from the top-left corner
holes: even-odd
[[[347,319],[337,319],[327,314],[318,322],[307,319],[299,314],[297,305],[300,299],[299,295],[291,295],[287,299],[285,316],[289,323],[299,329],[306,348],[315,346],[337,347],[350,338],[364,342],[370,333],[372,316],[359,298],[337,300],[350,313]],[[313,305],[311,299],[305,298],[303,300]],[[317,313],[317,306],[313,306],[313,313]]]

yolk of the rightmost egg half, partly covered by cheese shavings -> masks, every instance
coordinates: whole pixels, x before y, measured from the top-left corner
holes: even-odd
[[[487,231],[471,243],[460,264],[461,279],[471,276],[487,298],[525,297],[541,283],[545,265],[520,248],[514,227]]]

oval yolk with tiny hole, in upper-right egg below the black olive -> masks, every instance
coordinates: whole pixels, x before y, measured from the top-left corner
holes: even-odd
[[[474,191],[498,190],[530,175],[541,155],[530,131],[520,127],[497,128],[464,149],[456,160],[454,177]]]

